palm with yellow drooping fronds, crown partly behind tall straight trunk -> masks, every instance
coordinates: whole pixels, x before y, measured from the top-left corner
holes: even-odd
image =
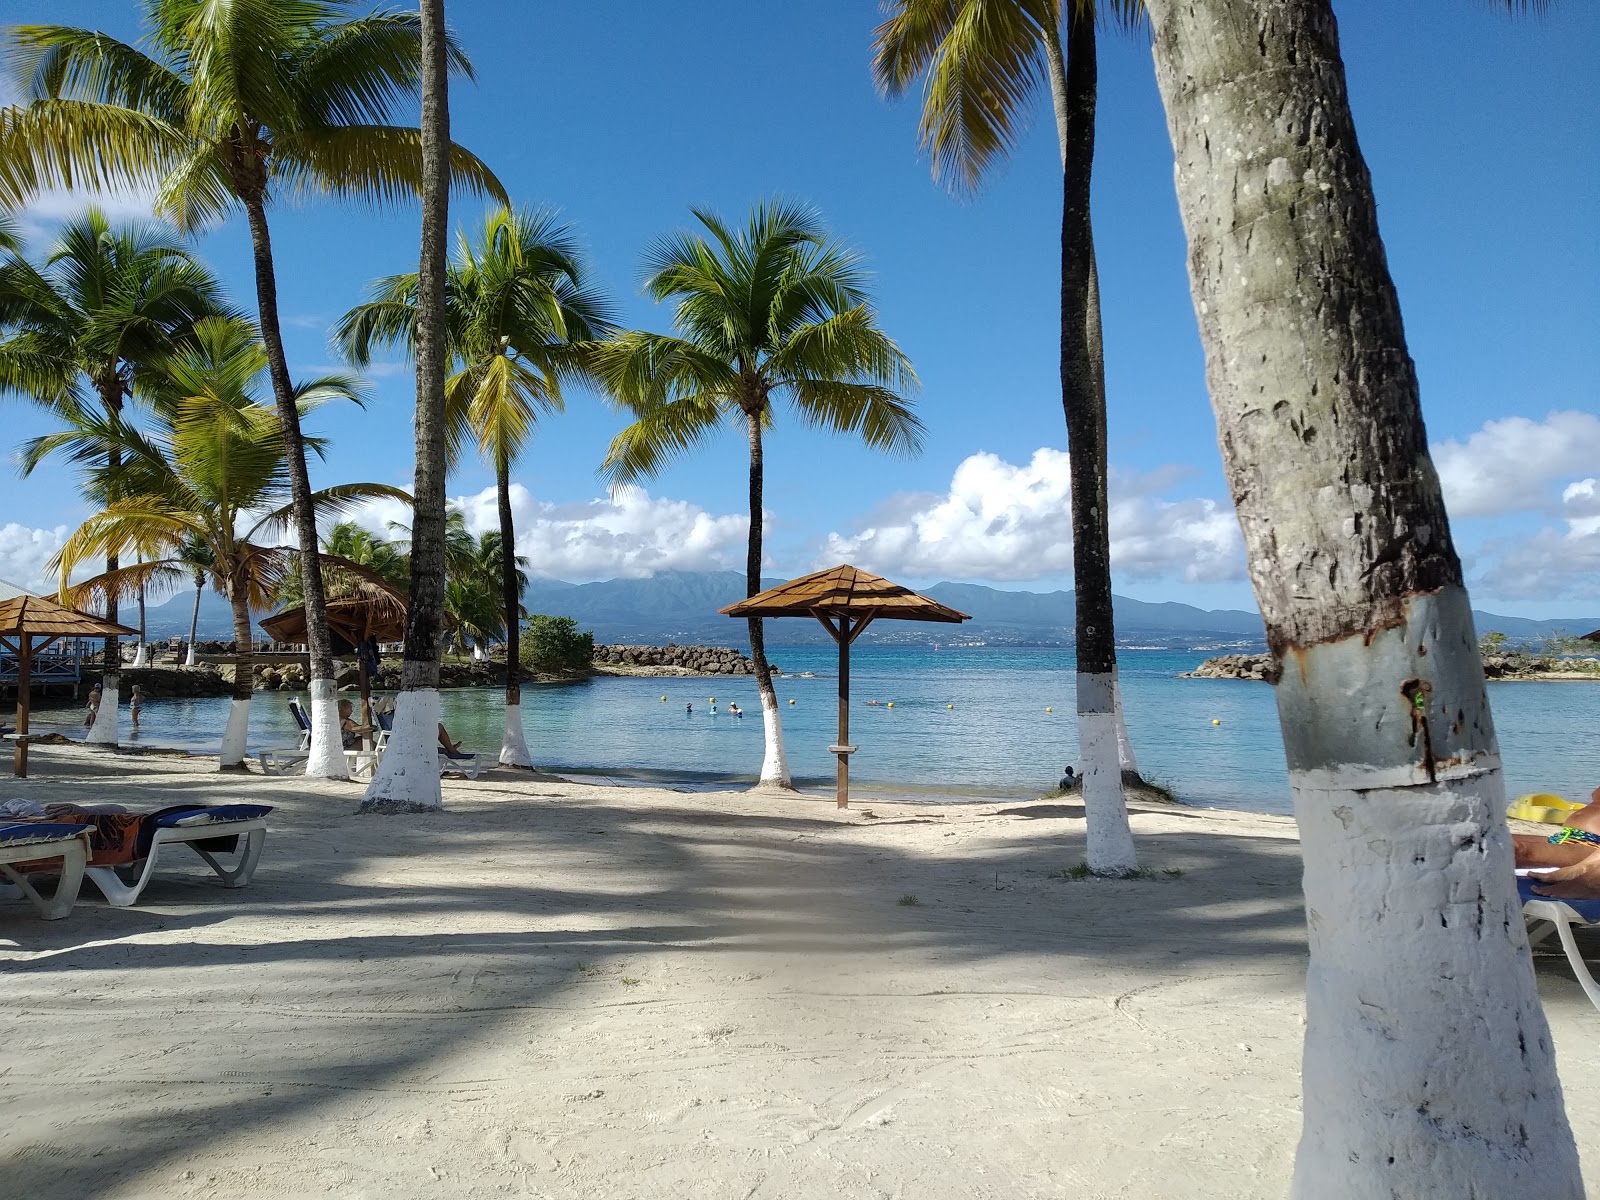
[[[451,448],[467,437],[494,467],[499,538],[517,544],[510,469],[546,413],[562,410],[562,376],[581,370],[579,344],[610,328],[605,302],[587,288],[578,242],[550,213],[490,213],[482,234],[461,237],[445,280],[445,334],[453,374],[445,381]],[[365,366],[374,346],[416,339],[416,275],[394,275],[373,299],[344,315],[334,338]],[[453,456],[451,456],[453,458]],[[510,558],[501,563],[507,630],[506,738],[499,760],[533,766],[522,728],[518,614],[522,587]]]

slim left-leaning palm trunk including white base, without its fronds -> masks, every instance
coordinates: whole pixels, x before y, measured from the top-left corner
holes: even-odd
[[[306,470],[306,438],[301,435],[294,384],[283,355],[278,326],[278,282],[272,266],[272,234],[261,189],[246,187],[245,214],[256,259],[256,306],[261,310],[261,341],[267,350],[267,376],[278,419],[283,422],[285,461],[290,469],[290,498],[294,502],[294,534],[299,541],[301,586],[306,598],[306,643],[310,651],[310,757],[306,774],[347,779],[344,739],[339,734],[339,706],[333,694],[333,642],[328,637],[328,600],[322,587],[322,555],[317,546],[317,509],[310,499]]]

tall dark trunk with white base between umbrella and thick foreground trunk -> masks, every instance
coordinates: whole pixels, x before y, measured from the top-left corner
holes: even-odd
[[[1061,406],[1072,459],[1072,578],[1077,610],[1078,752],[1090,870],[1138,869],[1117,749],[1117,635],[1106,509],[1106,390],[1090,339],[1094,230],[1094,11],[1070,5],[1066,64],[1066,154],[1061,171]],[[1098,341],[1099,318],[1094,314]]]

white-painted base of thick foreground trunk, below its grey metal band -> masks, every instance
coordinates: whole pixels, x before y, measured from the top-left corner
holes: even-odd
[[[1579,1200],[1499,765],[1374,774],[1290,774],[1310,928],[1291,1195]]]

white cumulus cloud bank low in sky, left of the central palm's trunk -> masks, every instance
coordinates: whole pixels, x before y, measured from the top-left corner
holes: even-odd
[[[499,528],[494,488],[456,496],[474,533]],[[534,574],[570,579],[640,579],[656,571],[722,571],[744,562],[749,520],[714,515],[688,501],[654,498],[627,488],[611,499],[554,504],[510,485],[517,552]],[[398,501],[373,501],[354,517],[363,528],[387,534],[387,522],[410,525]]]

